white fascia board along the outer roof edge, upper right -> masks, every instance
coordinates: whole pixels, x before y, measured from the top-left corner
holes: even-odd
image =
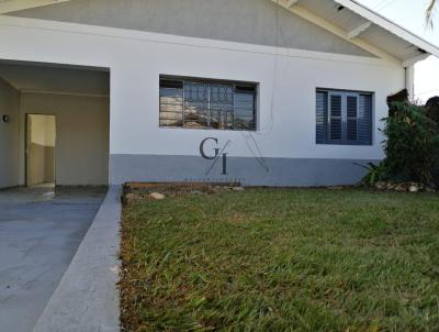
[[[397,35],[398,37],[414,44],[415,46],[439,57],[439,48],[435,45],[428,43],[427,41],[418,37],[417,35],[410,33],[404,27],[397,25],[396,23],[383,18],[382,15],[371,11],[370,9],[352,1],[352,0],[334,0],[340,5],[353,11],[354,13],[363,16],[364,19],[371,21],[372,23],[387,30],[389,32]]]

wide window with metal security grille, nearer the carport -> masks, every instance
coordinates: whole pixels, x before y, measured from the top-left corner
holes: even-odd
[[[256,85],[160,78],[160,126],[256,130]]]

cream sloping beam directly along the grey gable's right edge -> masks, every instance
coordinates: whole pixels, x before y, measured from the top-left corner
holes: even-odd
[[[368,42],[365,42],[365,41],[363,41],[363,40],[361,40],[359,37],[350,38],[348,31],[345,31],[345,30],[338,27],[337,25],[335,25],[335,24],[322,19],[320,16],[318,16],[318,15],[312,13],[311,11],[300,7],[299,4],[295,4],[295,5],[291,7],[291,8],[289,8],[286,0],[271,0],[271,1],[277,3],[277,4],[279,4],[279,5],[281,5],[281,7],[283,7],[283,8],[285,8],[286,10],[289,10],[292,13],[301,16],[302,19],[305,19],[308,22],[314,23],[314,24],[320,26],[322,29],[325,29],[325,30],[334,33],[335,35],[344,38],[345,41],[348,41],[348,42],[352,43],[353,45],[356,45],[356,46],[358,46],[358,47],[360,47],[360,48],[362,48],[362,49],[364,49],[364,51],[367,51],[367,52],[369,52],[369,53],[371,53],[371,54],[373,54],[373,55],[375,55],[375,56],[378,56],[378,57],[380,57],[382,59],[390,60],[390,62],[395,63],[395,64],[397,64],[399,66],[402,65],[402,60],[401,59],[392,56],[391,54],[386,53],[385,51],[383,51],[383,49],[381,49],[381,48],[379,48],[376,46],[373,46],[373,45],[369,44]]]

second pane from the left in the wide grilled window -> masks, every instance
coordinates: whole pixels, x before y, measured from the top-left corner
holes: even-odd
[[[209,85],[184,82],[184,126],[206,128],[209,124]]]

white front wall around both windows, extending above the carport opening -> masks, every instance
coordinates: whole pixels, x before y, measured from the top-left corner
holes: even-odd
[[[232,140],[230,156],[252,156],[240,132],[160,129],[160,74],[258,82],[255,139],[282,158],[382,158],[385,98],[405,87],[401,65],[359,56],[4,16],[0,26],[0,58],[111,69],[111,154],[195,156],[214,135]],[[375,93],[373,146],[315,144],[316,88]]]

